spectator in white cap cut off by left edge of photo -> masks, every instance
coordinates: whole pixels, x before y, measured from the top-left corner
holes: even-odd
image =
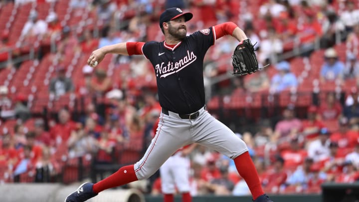
[[[0,119],[13,118],[14,111],[12,101],[8,96],[8,88],[0,86]]]

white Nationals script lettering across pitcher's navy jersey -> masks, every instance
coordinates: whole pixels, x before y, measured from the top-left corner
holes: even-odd
[[[187,55],[180,59],[178,62],[169,61],[166,65],[165,62],[162,62],[161,65],[156,64],[156,76],[159,76],[160,78],[166,78],[168,75],[179,72],[184,67],[194,62],[196,59],[197,56],[195,56],[193,51],[189,53],[189,50],[187,50]]]

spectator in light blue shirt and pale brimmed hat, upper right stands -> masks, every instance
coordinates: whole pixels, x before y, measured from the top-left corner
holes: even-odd
[[[325,83],[327,81],[335,81],[343,79],[344,63],[339,60],[337,51],[334,48],[328,48],[324,52],[325,62],[320,72],[320,80]]]

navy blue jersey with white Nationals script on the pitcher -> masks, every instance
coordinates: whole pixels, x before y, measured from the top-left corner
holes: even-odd
[[[215,42],[213,29],[196,31],[174,48],[164,41],[150,41],[142,47],[155,69],[163,108],[190,114],[204,106],[203,58]]]

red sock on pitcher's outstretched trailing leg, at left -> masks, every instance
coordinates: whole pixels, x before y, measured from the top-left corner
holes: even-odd
[[[127,183],[131,183],[137,180],[138,179],[135,174],[134,165],[124,166],[116,173],[94,184],[92,189],[95,193],[99,193],[104,190],[126,185]]]

